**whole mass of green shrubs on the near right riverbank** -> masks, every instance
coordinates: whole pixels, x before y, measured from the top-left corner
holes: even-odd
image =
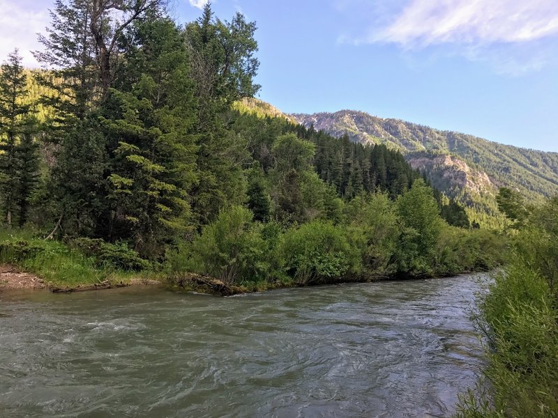
[[[480,298],[488,366],[458,418],[558,417],[558,199],[515,235],[513,261]]]

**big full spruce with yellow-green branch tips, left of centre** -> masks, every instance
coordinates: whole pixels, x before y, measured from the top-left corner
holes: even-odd
[[[174,22],[137,22],[130,40],[128,72],[137,81],[122,80],[124,91],[111,89],[100,118],[110,156],[103,224],[108,240],[132,240],[140,254],[153,257],[189,228],[196,101]]]

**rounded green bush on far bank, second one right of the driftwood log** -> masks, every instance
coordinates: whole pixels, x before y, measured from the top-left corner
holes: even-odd
[[[280,245],[285,270],[297,284],[327,284],[361,273],[361,254],[340,226],[314,221],[290,229]]]

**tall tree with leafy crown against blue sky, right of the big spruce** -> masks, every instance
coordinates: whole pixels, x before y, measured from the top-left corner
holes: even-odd
[[[197,107],[197,173],[199,181],[190,190],[198,225],[211,222],[227,203],[245,201],[242,173],[249,162],[243,137],[229,131],[226,113],[239,98],[254,95],[259,62],[254,54],[255,23],[237,14],[232,22],[213,17],[211,5],[202,17],[186,26],[186,46],[195,82]]]

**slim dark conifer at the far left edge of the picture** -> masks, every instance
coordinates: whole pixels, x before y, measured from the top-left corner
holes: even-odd
[[[0,199],[8,226],[12,226],[17,201],[27,199],[18,195],[18,191],[22,192],[18,148],[24,137],[25,119],[31,111],[29,104],[22,104],[27,94],[26,84],[22,59],[15,49],[1,65],[0,72]]]

